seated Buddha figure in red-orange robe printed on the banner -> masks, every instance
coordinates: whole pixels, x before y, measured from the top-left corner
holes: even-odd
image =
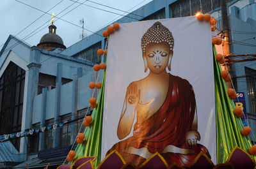
[[[200,145],[197,129],[196,100],[188,80],[171,71],[174,39],[168,28],[155,22],[141,38],[141,50],[147,77],[131,82],[117,128],[120,142],[116,150],[127,163],[140,166],[155,152],[168,165],[191,166],[196,156],[207,148]],[[136,115],[136,122],[134,117]],[[131,133],[133,135],[125,137]]]

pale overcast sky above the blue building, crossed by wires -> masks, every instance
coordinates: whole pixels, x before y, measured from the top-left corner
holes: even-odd
[[[10,34],[15,36],[19,33],[17,35],[17,38],[20,38],[20,40],[25,41],[29,45],[33,46],[37,45],[40,41],[40,38],[49,31],[48,26],[50,24],[51,15],[45,14],[44,16],[42,16],[44,12],[26,6],[19,1],[45,12],[49,10],[48,13],[50,14],[52,14],[52,11],[54,11],[56,17],[61,17],[65,15],[65,13],[67,13],[68,11],[75,8],[61,18],[63,20],[67,20],[68,22],[72,22],[72,24],[75,24],[77,26],[80,26],[79,21],[84,18],[84,28],[95,32],[103,26],[106,26],[106,24],[109,24],[109,22],[116,20],[117,18],[120,18],[122,16],[116,15],[114,13],[109,13],[107,11],[95,9],[90,6],[125,15],[123,11],[132,12],[152,0],[1,0],[0,49],[3,47],[2,45],[6,42]],[[76,1],[78,3],[75,3]],[[84,3],[84,1],[86,2]],[[79,6],[79,3],[84,3],[90,6],[84,6],[83,4]],[[114,10],[113,8],[107,8],[106,6],[102,6],[96,3],[111,6],[113,8],[123,11]],[[50,10],[51,8],[52,10]],[[65,10],[65,8],[67,9]],[[73,45],[80,40],[79,35],[82,34],[81,27],[74,26],[58,18],[55,18],[54,20],[57,27],[56,34],[61,36],[66,47],[70,47],[70,45]],[[31,24],[32,22],[34,23],[29,26],[29,24]],[[29,27],[22,31],[22,29],[26,28],[27,26]],[[20,33],[20,31],[22,31],[22,33]],[[92,34],[89,31],[85,30],[84,33],[87,36]]]

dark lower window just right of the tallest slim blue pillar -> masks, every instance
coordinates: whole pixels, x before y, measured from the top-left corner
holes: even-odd
[[[61,128],[61,140],[60,145],[69,145],[70,144],[70,132],[71,132],[71,114],[61,115],[61,122],[63,122],[63,127]]]

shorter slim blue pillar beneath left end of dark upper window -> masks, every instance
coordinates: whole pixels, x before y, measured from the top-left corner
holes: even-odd
[[[40,127],[45,126],[45,114],[46,114],[46,98],[47,98],[47,88],[43,88],[42,91],[42,107],[41,107],[41,118],[40,118]],[[42,151],[44,150],[45,147],[45,132],[40,133],[39,135],[39,150]]]

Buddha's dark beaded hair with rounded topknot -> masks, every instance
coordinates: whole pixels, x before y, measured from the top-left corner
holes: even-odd
[[[151,26],[141,38],[141,49],[144,53],[149,43],[168,43],[170,50],[173,50],[174,40],[171,31],[157,21]]]

